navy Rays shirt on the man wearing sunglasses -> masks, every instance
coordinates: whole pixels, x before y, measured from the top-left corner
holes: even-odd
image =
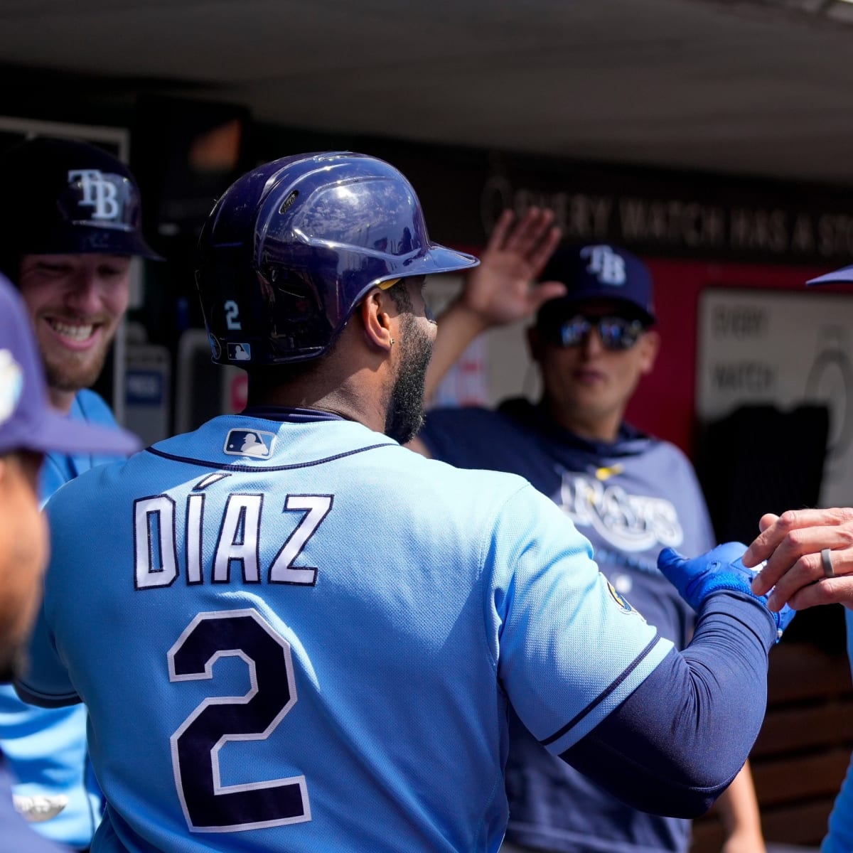
[[[672,444],[622,424],[614,442],[581,438],[541,406],[433,409],[419,438],[437,459],[518,473],[551,498],[592,543],[601,572],[650,624],[683,648],[693,609],[659,572],[664,547],[714,547],[693,468]],[[507,838],[536,850],[685,853],[690,822],[620,803],[509,722]]]

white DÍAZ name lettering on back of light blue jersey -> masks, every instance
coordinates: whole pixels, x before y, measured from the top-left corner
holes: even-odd
[[[316,584],[316,566],[294,566],[334,503],[332,495],[286,495],[235,491],[221,511],[206,501],[207,487],[227,478],[211,474],[196,483],[185,497],[164,492],[133,502],[133,580],[135,589],[162,589],[178,577],[188,585],[230,583]],[[293,528],[283,538],[270,564],[261,565],[262,516],[293,514]],[[179,519],[183,543],[178,547]],[[267,531],[281,524],[265,525]],[[269,535],[269,534],[268,534]],[[205,560],[203,543],[214,542],[212,559]],[[183,554],[183,560],[178,554]],[[206,565],[205,565],[206,564]]]

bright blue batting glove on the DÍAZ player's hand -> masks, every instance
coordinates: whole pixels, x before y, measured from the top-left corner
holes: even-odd
[[[740,558],[746,551],[746,545],[739,542],[727,542],[717,545],[706,554],[700,554],[688,560],[673,548],[664,548],[658,555],[658,568],[664,577],[678,590],[684,601],[697,613],[710,595],[718,592],[740,592],[749,595],[767,607],[767,595],[754,595],[751,590],[752,578],[756,572],[747,569]],[[757,570],[756,570],[757,571]],[[796,611],[789,606],[780,612],[768,610],[776,623],[776,639],[780,639]]]

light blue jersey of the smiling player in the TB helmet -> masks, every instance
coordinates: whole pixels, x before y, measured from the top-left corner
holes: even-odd
[[[68,417],[116,427],[107,403],[84,389]],[[78,474],[115,456],[49,453],[41,473],[41,496],[49,496]],[[102,813],[102,794],[86,752],[86,709],[37,708],[22,702],[10,684],[0,685],[0,748],[15,778],[19,806],[39,833],[75,849],[88,847]]]

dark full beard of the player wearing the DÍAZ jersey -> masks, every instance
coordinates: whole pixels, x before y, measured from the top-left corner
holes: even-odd
[[[424,420],[424,387],[432,357],[432,337],[413,316],[400,324],[400,368],[391,391],[385,418],[385,434],[406,444]]]

